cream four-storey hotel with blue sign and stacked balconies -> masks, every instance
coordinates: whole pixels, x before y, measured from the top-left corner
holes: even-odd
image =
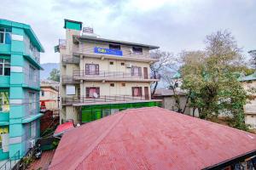
[[[65,20],[66,40],[60,52],[61,122],[91,122],[128,108],[159,105],[152,100],[149,65],[157,61],[136,42],[101,38],[82,22]]]

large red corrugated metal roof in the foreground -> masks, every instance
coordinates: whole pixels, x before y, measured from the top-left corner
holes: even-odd
[[[150,107],[68,131],[49,169],[201,169],[255,149],[255,134]]]

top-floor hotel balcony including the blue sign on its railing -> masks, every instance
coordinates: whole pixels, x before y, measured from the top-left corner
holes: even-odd
[[[100,58],[100,59],[122,59],[122,60],[134,60],[143,62],[155,62],[158,61],[154,56],[150,56],[149,53],[134,53],[128,48],[125,49],[109,49],[98,47],[86,47],[84,45],[73,45],[74,55],[83,55],[86,57]]]

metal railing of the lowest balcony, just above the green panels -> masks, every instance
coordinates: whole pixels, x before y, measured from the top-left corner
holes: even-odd
[[[66,97],[61,98],[62,105],[73,105],[73,104],[92,104],[92,103],[106,103],[106,102],[127,102],[127,101],[139,101],[148,100],[148,96],[131,96],[131,95],[101,95],[98,98],[89,98],[85,96],[80,97]]]

